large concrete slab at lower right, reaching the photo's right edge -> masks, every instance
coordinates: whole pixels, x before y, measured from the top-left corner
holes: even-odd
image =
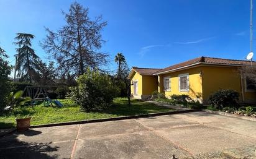
[[[156,132],[193,154],[217,152],[256,143],[252,137],[203,125],[162,129]]]

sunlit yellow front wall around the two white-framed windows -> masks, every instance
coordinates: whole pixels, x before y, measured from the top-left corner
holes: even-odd
[[[183,71],[171,72],[168,74],[158,75],[158,92],[165,93],[167,98],[171,95],[190,95],[194,100],[203,100],[202,78],[200,76],[200,67],[194,67]],[[189,75],[189,90],[188,92],[180,92],[178,77],[180,74]],[[171,78],[171,90],[163,90],[163,78],[170,76]]]

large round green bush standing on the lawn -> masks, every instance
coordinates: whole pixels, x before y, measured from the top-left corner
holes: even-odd
[[[84,111],[103,110],[111,106],[119,93],[111,78],[98,71],[88,69],[85,74],[80,75],[77,82],[78,87],[71,88],[70,97]]]

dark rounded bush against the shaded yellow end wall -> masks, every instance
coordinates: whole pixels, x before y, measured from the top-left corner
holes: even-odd
[[[216,109],[223,109],[227,106],[237,107],[237,101],[239,100],[239,93],[235,90],[218,90],[209,96],[209,104]]]

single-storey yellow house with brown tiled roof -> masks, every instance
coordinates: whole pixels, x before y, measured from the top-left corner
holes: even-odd
[[[219,89],[232,89],[240,94],[240,102],[255,103],[256,92],[240,74],[242,66],[256,66],[256,62],[199,57],[164,69],[132,67],[129,78],[135,98],[149,98],[154,90],[171,95],[190,95],[207,103],[209,95]]]

